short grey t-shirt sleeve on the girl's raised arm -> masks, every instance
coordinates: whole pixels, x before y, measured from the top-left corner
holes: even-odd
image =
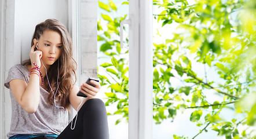
[[[5,87],[10,89],[10,84],[9,82],[12,81],[13,79],[23,79],[25,80],[25,75],[23,74],[23,72],[20,69],[19,65],[14,65],[12,68],[10,68],[9,72],[8,72],[8,77],[5,80]]]

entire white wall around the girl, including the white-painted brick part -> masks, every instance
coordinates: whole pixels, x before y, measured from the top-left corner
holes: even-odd
[[[97,76],[97,0],[0,0],[0,12],[0,138],[6,138],[12,114],[9,90],[3,82],[10,67],[29,58],[36,24],[46,19],[61,21],[73,39],[78,75],[82,75],[78,81]]]

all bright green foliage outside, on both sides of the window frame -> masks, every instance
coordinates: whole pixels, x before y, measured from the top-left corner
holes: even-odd
[[[120,7],[129,4],[121,3]],[[153,6],[162,10],[153,14],[160,24],[154,30],[166,38],[153,42],[155,123],[175,120],[178,112],[195,109],[189,120],[203,129],[193,138],[207,128],[225,138],[256,138],[251,131],[256,125],[256,1],[153,0]],[[118,124],[128,119],[128,39],[122,49],[119,42],[120,21],[127,15],[116,17],[119,5],[111,0],[99,1],[99,7],[105,13],[98,21],[98,42],[109,61],[100,65],[105,73],[98,78],[109,89],[106,106],[117,108],[109,115],[122,115]],[[172,26],[176,30],[171,31]],[[160,28],[167,28],[171,35],[162,35]],[[213,93],[222,99],[212,100]],[[225,109],[242,117],[225,119],[221,116]],[[248,130],[241,130],[243,125]]]

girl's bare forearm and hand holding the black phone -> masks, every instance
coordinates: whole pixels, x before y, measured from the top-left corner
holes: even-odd
[[[91,80],[91,83],[93,83],[94,85],[96,85],[95,87],[88,85],[87,83],[83,83],[83,85],[81,85],[81,89],[80,91],[84,94],[86,94],[86,98],[83,100],[81,106],[89,99],[92,99],[96,96],[96,94],[100,91],[100,83]],[[76,96],[76,94],[79,92],[79,87],[78,86],[74,86],[71,90],[70,93],[70,104],[72,105],[72,107],[77,110],[78,105],[81,103],[83,97],[78,97]],[[78,108],[79,111],[80,108]]]

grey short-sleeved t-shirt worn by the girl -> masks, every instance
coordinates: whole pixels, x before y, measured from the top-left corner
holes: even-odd
[[[29,71],[25,65],[14,65],[10,68],[5,87],[10,89],[9,82],[13,79],[23,79],[28,83]],[[45,81],[47,83],[47,81]],[[7,137],[16,134],[60,134],[68,125],[68,111],[48,104],[49,92],[40,86],[40,101],[34,114],[28,114],[16,101],[10,89],[12,101],[12,121]],[[56,105],[59,105],[56,103]]]

